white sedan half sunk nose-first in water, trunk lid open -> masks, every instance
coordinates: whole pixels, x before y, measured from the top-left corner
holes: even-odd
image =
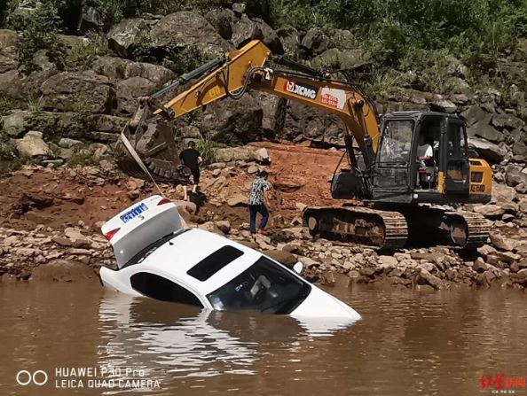
[[[360,318],[353,308],[261,252],[182,227],[177,206],[161,196],[125,209],[102,232],[119,267],[100,268],[101,283],[110,289],[216,310]],[[295,266],[298,272],[300,267]]]

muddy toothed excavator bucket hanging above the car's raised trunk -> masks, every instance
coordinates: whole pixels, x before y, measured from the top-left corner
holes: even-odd
[[[130,121],[131,122],[131,121]],[[126,125],[123,134],[130,145],[142,159],[146,169],[156,182],[185,184],[191,175],[189,169],[181,164],[177,156],[174,134],[169,125],[162,120],[149,122],[136,129]],[[126,174],[144,180],[150,180],[149,175],[141,167],[137,156],[126,147],[122,139],[115,144],[117,166]]]

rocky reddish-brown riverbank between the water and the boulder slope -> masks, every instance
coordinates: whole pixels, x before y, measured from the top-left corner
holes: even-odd
[[[258,236],[254,242],[245,202],[257,166],[248,152],[263,145],[272,159],[271,224],[269,235]],[[364,245],[313,241],[302,227],[305,205],[339,205],[329,197],[329,186],[320,182],[333,171],[342,155],[339,151],[282,144],[238,151],[236,155],[245,152],[247,158],[231,157],[230,162],[203,171],[201,189],[207,200],[199,210],[192,203],[177,201],[182,198],[180,186],[161,185],[191,226],[251,245],[288,265],[301,260],[304,276],[324,285],[334,284],[342,275],[349,283],[381,282],[421,290],[527,286],[527,201],[506,185],[495,185],[492,205],[465,208],[492,221],[489,243],[477,251],[429,244],[380,252]],[[113,253],[99,231],[102,222],[155,193],[149,183],[113,167],[23,167],[2,179],[0,190],[3,282],[96,278],[98,268],[114,266]]]

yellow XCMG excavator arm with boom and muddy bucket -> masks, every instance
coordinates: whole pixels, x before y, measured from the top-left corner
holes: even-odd
[[[379,141],[373,101],[358,87],[338,81],[331,74],[320,74],[282,58],[274,60],[278,64],[281,61],[290,67],[297,66],[299,71],[272,68],[271,50],[255,40],[224,58],[184,74],[152,97],[140,99],[138,110],[127,124],[124,135],[154,177],[177,182],[185,175],[177,166],[174,136],[162,123],[148,123],[151,116],[161,114],[166,119],[175,119],[225,97],[240,99],[248,90],[256,89],[338,115],[347,128],[348,137],[352,136],[357,142],[366,166],[371,165]],[[159,97],[191,80],[192,86],[161,105]],[[132,175],[143,175],[122,143],[117,144],[117,156],[123,170]]]

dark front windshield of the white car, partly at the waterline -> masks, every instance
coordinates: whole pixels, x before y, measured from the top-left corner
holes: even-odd
[[[220,310],[254,309],[272,314],[289,314],[309,295],[311,286],[262,257],[231,282],[207,298]]]

